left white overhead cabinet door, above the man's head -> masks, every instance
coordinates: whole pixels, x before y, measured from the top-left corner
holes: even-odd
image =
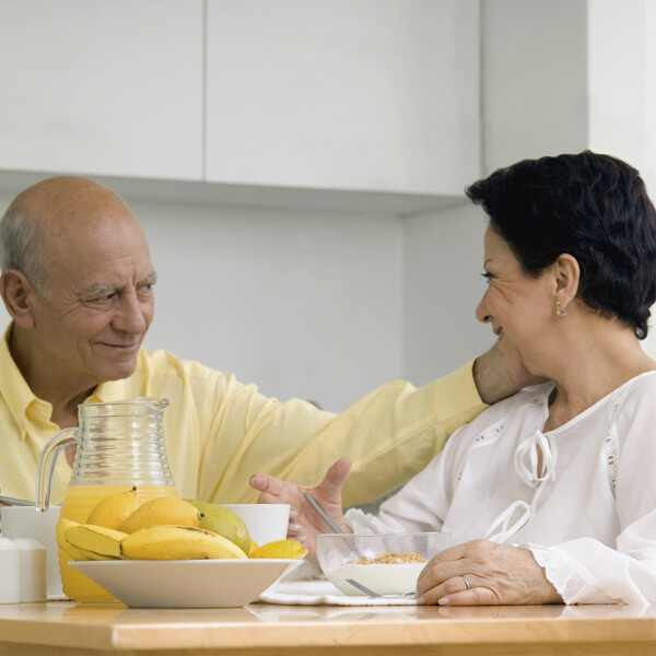
[[[202,0],[2,0],[0,168],[200,180]]]

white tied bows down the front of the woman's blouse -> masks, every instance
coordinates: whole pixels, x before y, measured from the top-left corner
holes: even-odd
[[[542,457],[542,471],[538,471],[538,464]],[[500,544],[505,543],[532,517],[538,497],[544,481],[555,480],[557,447],[539,431],[522,441],[515,450],[515,471],[519,478],[536,490],[531,503],[517,500],[492,522],[485,539]]]

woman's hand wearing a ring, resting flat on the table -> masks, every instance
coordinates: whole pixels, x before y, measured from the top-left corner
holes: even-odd
[[[528,549],[487,540],[471,540],[431,559],[419,575],[417,596],[441,606],[562,604]]]

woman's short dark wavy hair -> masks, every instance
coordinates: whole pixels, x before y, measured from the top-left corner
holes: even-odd
[[[577,297],[646,337],[656,301],[656,210],[635,168],[584,151],[524,160],[465,192],[527,274],[572,255],[581,268]]]

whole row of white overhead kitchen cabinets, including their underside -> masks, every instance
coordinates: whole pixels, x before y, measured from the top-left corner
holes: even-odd
[[[0,178],[320,211],[461,202],[480,173],[479,14],[478,0],[0,0]]]

